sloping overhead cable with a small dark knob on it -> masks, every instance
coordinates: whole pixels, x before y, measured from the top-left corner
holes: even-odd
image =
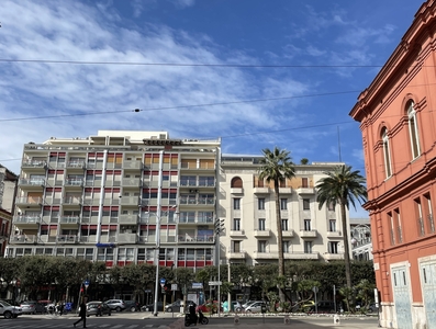
[[[231,102],[221,102],[221,103],[206,103],[206,104],[193,104],[193,105],[150,107],[150,109],[145,109],[145,110],[135,109],[135,110],[118,110],[118,111],[88,112],[88,113],[74,113],[74,114],[57,114],[57,115],[45,115],[45,116],[12,117],[12,118],[0,118],[0,122],[27,121],[27,120],[41,120],[41,118],[56,118],[56,117],[70,117],[70,116],[86,116],[86,115],[101,115],[101,114],[126,113],[126,112],[168,111],[168,110],[179,110],[179,109],[190,109],[190,107],[233,105],[233,104],[243,104],[243,103],[256,103],[256,102],[269,102],[269,101],[281,101],[281,100],[314,98],[314,97],[326,97],[326,95],[337,95],[337,94],[347,94],[347,93],[357,93],[357,92],[360,92],[360,90],[326,92],[326,93],[315,93],[315,94],[305,94],[305,95],[292,95],[292,97],[282,97],[282,98],[271,98],[271,99],[255,99],[255,100],[245,100],[245,101],[231,101]]]

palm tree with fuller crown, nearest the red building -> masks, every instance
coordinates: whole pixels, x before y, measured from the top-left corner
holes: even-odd
[[[345,246],[345,276],[347,279],[347,287],[351,288],[351,269],[349,260],[349,246],[348,246],[348,228],[347,228],[347,214],[345,207],[349,209],[349,204],[355,208],[355,200],[360,204],[367,201],[367,188],[364,185],[366,179],[360,175],[359,170],[351,171],[351,166],[339,166],[333,171],[326,171],[326,178],[323,178],[316,184],[318,208],[321,209],[324,204],[336,204],[340,206],[340,220],[343,224],[344,246]]]

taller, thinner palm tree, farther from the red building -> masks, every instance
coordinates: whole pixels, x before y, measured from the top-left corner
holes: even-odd
[[[275,195],[276,195],[276,222],[277,222],[277,245],[279,247],[279,276],[284,276],[284,257],[283,257],[283,242],[281,230],[281,216],[280,216],[280,183],[286,182],[295,175],[293,162],[289,156],[289,151],[275,147],[271,151],[269,148],[262,149],[264,158],[259,163],[259,180],[267,180],[269,183],[273,181]],[[284,293],[279,287],[280,300],[284,302]]]

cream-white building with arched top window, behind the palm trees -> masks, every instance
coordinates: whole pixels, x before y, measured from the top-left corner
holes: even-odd
[[[222,263],[255,265],[278,260],[273,183],[258,179],[260,159],[222,156],[219,183],[219,216],[225,219],[220,237]],[[325,177],[323,172],[338,164],[343,163],[297,164],[295,178],[280,185],[284,260],[344,259],[339,208],[324,205],[318,209],[315,190],[317,181]]]

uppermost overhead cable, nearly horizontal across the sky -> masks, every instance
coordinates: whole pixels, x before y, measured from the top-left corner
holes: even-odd
[[[222,67],[222,68],[381,68],[383,65],[262,65],[262,64],[208,64],[208,63],[145,63],[145,61],[88,61],[55,59],[9,59],[0,63],[41,63],[74,65],[124,65],[124,66],[172,66],[172,67]]]

